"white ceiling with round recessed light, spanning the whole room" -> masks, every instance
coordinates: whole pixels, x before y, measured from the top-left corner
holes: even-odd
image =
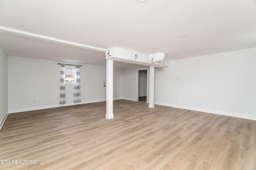
[[[0,45],[7,55],[100,65],[105,53],[82,46],[170,59],[252,48],[256,0],[0,0]]]

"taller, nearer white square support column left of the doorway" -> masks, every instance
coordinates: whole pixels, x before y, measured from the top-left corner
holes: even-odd
[[[106,79],[106,89],[107,89],[107,107],[106,107],[106,118],[114,118],[113,114],[113,60],[107,60],[107,79]]]

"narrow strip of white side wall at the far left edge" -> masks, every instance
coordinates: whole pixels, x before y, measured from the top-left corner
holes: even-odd
[[[7,78],[7,66],[8,66],[7,55],[0,47],[0,129],[8,115],[8,78]]]

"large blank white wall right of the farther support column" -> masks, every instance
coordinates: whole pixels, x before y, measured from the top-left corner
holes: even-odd
[[[155,104],[256,120],[256,48],[156,68]]]

